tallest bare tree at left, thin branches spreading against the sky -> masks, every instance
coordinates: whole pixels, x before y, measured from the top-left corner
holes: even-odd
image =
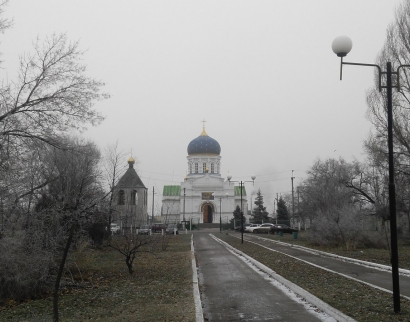
[[[103,119],[93,105],[108,95],[100,93],[101,82],[86,76],[82,55],[78,42],[69,43],[64,34],[37,40],[34,53],[20,59],[17,80],[0,87],[0,197],[6,209],[8,201],[53,180],[19,185],[33,149],[42,144],[69,148],[62,135]]]

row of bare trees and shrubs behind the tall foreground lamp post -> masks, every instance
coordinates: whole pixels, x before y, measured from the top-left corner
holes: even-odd
[[[376,64],[393,70],[410,64],[410,1],[398,6],[395,21],[387,28],[386,42]],[[400,89],[393,90],[393,144],[398,232],[410,234],[410,70],[400,69]],[[385,79],[382,77],[382,82]],[[393,85],[398,83],[397,78]],[[388,246],[389,175],[387,97],[379,91],[379,75],[367,92],[367,117],[372,130],[364,142],[364,162],[344,159],[316,160],[296,196],[295,218],[312,224],[313,241],[320,244]],[[296,201],[295,201],[296,199]],[[376,233],[375,233],[376,231]],[[378,233],[377,233],[378,232]]]

